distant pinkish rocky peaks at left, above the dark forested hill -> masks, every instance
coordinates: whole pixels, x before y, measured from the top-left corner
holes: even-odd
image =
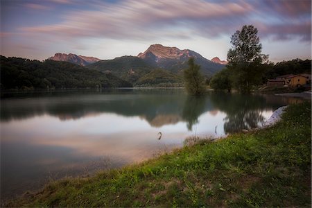
[[[55,53],[55,55],[48,58],[48,60],[71,62],[80,66],[87,66],[89,64],[98,62],[100,59],[90,56],[76,55],[72,53],[69,53],[68,55],[66,53]]]

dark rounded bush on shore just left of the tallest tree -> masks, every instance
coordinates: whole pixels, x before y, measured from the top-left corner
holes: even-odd
[[[229,69],[225,68],[216,73],[210,80],[210,87],[214,89],[227,89],[227,92],[231,92],[232,83]]]

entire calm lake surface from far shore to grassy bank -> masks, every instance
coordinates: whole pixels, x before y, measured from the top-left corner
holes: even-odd
[[[214,92],[196,98],[183,89],[2,94],[1,198],[51,179],[141,162],[189,136],[256,128],[278,107],[298,102]]]

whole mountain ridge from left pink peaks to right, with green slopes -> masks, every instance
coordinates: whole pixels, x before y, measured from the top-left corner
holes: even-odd
[[[214,73],[225,67],[225,64],[212,62],[195,51],[180,50],[177,47],[163,46],[162,44],[152,44],[146,51],[137,56],[124,55],[112,60],[99,60],[73,53],[55,53],[48,60],[71,62],[87,67],[87,69],[95,69],[107,74],[112,73],[112,75],[132,83],[132,85],[148,85],[148,80],[150,80],[151,85],[168,85],[171,81],[174,85],[180,85],[178,84],[181,83],[180,79],[170,75],[170,73],[181,77],[183,70],[189,67],[188,60],[191,57],[195,58],[196,64],[200,65],[200,70],[205,76],[213,76]],[[157,69],[164,71],[151,73]],[[162,76],[163,78],[161,78]],[[140,80],[142,77],[144,80]],[[157,82],[153,78],[157,78]]]

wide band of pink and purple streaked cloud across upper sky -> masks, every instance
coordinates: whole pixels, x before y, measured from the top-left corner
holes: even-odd
[[[71,1],[54,0],[70,3]],[[260,3],[259,3],[260,2]],[[33,4],[31,4],[33,5]],[[33,5],[35,7],[35,5]],[[263,37],[288,40],[298,36],[311,41],[311,1],[121,1],[101,3],[96,10],[75,10],[61,22],[23,27],[26,33],[60,37],[105,37],[153,40],[159,37],[218,37],[243,24],[263,28]],[[253,19],[254,14],[275,18],[272,24]],[[305,15],[305,16],[304,16]],[[295,19],[298,17],[301,21]],[[305,19],[302,20],[301,17]]]

